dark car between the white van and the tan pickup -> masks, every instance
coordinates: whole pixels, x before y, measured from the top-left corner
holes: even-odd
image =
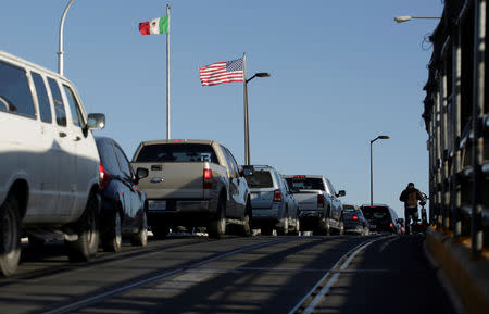
[[[148,243],[146,193],[137,189],[148,169],[136,174],[121,146],[113,139],[96,137],[100,155],[100,238],[104,251],[118,252],[122,237],[130,237],[133,246]]]

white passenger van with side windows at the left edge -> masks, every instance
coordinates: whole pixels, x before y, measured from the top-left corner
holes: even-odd
[[[99,154],[73,84],[0,51],[0,275],[17,267],[21,237],[58,235],[71,261],[88,261],[99,243]],[[50,236],[51,235],[51,236]]]

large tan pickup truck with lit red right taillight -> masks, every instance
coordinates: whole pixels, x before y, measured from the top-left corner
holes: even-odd
[[[247,180],[217,141],[143,141],[131,163],[149,169],[138,186],[148,197],[148,224],[155,236],[186,226],[206,227],[210,237],[222,238],[230,224],[240,235],[251,235]]]

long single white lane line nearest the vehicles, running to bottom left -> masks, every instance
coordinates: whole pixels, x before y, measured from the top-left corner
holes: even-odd
[[[248,247],[248,248],[234,250],[234,251],[227,252],[225,254],[217,255],[215,258],[208,259],[205,261],[191,264],[190,266],[185,267],[185,268],[177,268],[177,269],[174,269],[174,271],[165,272],[163,274],[153,276],[151,278],[147,278],[147,279],[143,279],[143,280],[140,280],[140,281],[136,281],[136,282],[126,285],[124,287],[121,287],[121,288],[117,288],[117,289],[114,289],[114,290],[111,290],[111,291],[106,291],[104,293],[100,293],[98,296],[93,296],[93,297],[90,297],[90,298],[87,298],[87,299],[84,299],[84,300],[71,303],[68,305],[64,305],[64,306],[61,306],[61,307],[58,307],[58,309],[53,309],[51,311],[43,312],[43,314],[59,314],[59,313],[67,313],[67,312],[71,312],[71,311],[75,311],[75,310],[82,309],[82,307],[84,307],[86,305],[89,305],[91,303],[95,303],[97,301],[100,301],[100,300],[102,300],[104,298],[112,297],[114,294],[117,294],[117,293],[130,290],[133,288],[138,288],[140,286],[146,285],[146,284],[149,284],[149,282],[152,282],[152,281],[156,281],[159,279],[163,279],[165,277],[168,277],[168,276],[181,273],[181,272],[184,272],[186,269],[189,269],[189,268],[190,269],[191,268],[197,268],[197,267],[200,267],[200,266],[202,266],[204,264],[211,263],[213,261],[221,260],[221,259],[226,259],[228,256],[236,255],[236,254],[239,254],[241,252],[251,251],[251,250],[260,249],[260,248],[263,248],[263,247],[269,247],[269,246],[274,246],[274,244],[281,244],[281,243],[290,242],[290,241],[291,241],[291,239],[286,239],[286,240],[280,240],[280,241],[273,241],[273,242],[265,242],[265,243],[254,244],[254,246],[251,246],[251,247]]]

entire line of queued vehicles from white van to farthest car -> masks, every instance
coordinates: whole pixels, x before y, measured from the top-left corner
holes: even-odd
[[[149,228],[161,238],[179,226],[213,238],[366,235],[380,215],[343,205],[346,192],[324,176],[239,166],[214,140],[142,141],[129,161],[116,141],[93,137],[105,116],[86,114],[65,77],[0,51],[0,275],[15,272],[22,237],[64,241],[70,261],[84,262],[100,243],[120,251],[123,237],[146,246]]]

